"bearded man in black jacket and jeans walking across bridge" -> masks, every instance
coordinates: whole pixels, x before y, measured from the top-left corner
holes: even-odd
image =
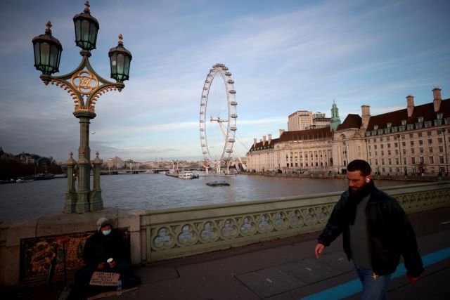
[[[344,251],[363,285],[360,299],[387,299],[390,275],[400,255],[409,282],[416,282],[423,272],[416,235],[397,200],[375,188],[366,161],[355,159],[348,164],[347,182],[348,190],[319,235],[316,257],[342,233]]]

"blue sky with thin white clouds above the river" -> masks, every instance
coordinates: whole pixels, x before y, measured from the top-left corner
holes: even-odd
[[[91,120],[91,153],[136,162],[202,159],[200,98],[210,68],[235,81],[235,151],[287,129],[297,110],[343,122],[450,98],[450,1],[144,1],[91,0],[100,23],[91,65],[109,79],[108,51],[122,34],[133,56],[122,92],[105,93]],[[79,147],[68,93],[45,86],[34,68],[32,38],[48,20],[63,45],[59,73],[81,62],[72,18],[84,0],[5,0],[0,11],[0,145],[58,162]],[[109,79],[112,80],[113,79]],[[93,158],[93,157],[91,157]]]

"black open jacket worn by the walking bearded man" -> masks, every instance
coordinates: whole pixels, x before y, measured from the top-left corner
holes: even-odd
[[[342,193],[318,241],[329,246],[342,233],[344,251],[351,259],[349,195],[349,190]],[[377,275],[394,273],[401,255],[408,275],[418,278],[423,272],[423,264],[416,235],[397,200],[374,187],[366,206],[366,221],[373,272]]]

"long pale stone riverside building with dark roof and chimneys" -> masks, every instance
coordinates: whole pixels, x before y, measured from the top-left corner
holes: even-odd
[[[280,137],[253,143],[247,154],[248,168],[255,171],[341,172],[353,159],[366,159],[373,172],[390,175],[448,174],[450,155],[450,99],[442,100],[433,89],[432,103],[371,116],[361,106],[361,116],[347,115],[344,122],[333,103],[330,127],[280,131]]]

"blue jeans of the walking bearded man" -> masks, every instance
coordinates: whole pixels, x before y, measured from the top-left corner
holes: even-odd
[[[391,275],[377,276],[373,278],[373,270],[368,270],[354,263],[356,273],[363,285],[359,299],[361,300],[387,300],[387,287],[391,281]]]

